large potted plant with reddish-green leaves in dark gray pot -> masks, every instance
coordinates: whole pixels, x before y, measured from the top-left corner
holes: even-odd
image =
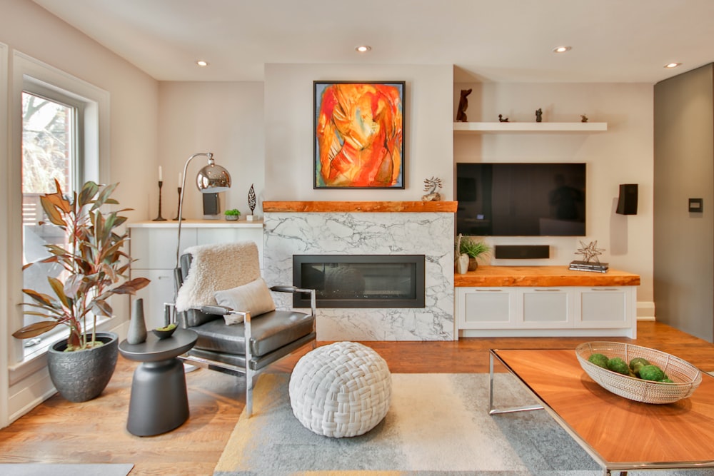
[[[97,319],[111,317],[112,295],[134,294],[149,284],[146,278],[127,280],[131,258],[123,247],[128,235],[116,228],[125,221],[119,213],[103,213],[104,205],[116,205],[111,193],[117,183],[100,186],[89,181],[68,200],[55,181],[56,192],[40,197],[49,223],[66,236],[66,246],[45,245],[49,257],[29,263],[58,263],[64,272],[47,280],[54,295],[36,290],[22,292],[31,298],[23,303],[25,314],[43,320],[24,326],[13,336],[34,338],[58,325],[69,328],[66,341],[51,346],[47,353],[49,375],[57,391],[67,400],[84,402],[98,397],[116,367],[119,337],[98,333]],[[44,222],[43,222],[44,223]]]

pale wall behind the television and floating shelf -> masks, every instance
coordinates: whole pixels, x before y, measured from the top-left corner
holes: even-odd
[[[600,260],[637,273],[638,313],[653,312],[653,86],[640,83],[456,83],[453,117],[461,89],[473,88],[466,114],[471,122],[607,122],[596,133],[458,133],[454,162],[585,162],[588,164],[588,236],[605,248]],[[638,213],[615,214],[620,183],[638,183]],[[567,264],[580,248],[578,238],[492,238],[498,244],[548,244],[550,260],[493,264]],[[651,317],[650,313],[647,317]]]

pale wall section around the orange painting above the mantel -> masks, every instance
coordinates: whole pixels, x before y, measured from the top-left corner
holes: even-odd
[[[406,81],[404,190],[313,190],[313,81]],[[442,178],[453,198],[453,66],[268,64],[265,71],[269,201],[420,201]]]

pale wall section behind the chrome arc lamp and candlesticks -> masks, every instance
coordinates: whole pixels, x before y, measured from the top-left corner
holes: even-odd
[[[163,167],[162,216],[178,215],[178,173],[194,153],[212,152],[219,166],[231,174],[231,189],[219,195],[221,213],[238,208],[241,218],[250,213],[248,190],[263,193],[263,83],[259,82],[161,82],[159,84],[159,165]],[[206,166],[205,157],[188,164],[183,219],[203,217],[196,174]],[[154,188],[146,196],[151,209],[141,219],[156,218],[158,170],[151,171]],[[256,214],[261,208],[256,207]],[[221,219],[223,217],[221,216]]]

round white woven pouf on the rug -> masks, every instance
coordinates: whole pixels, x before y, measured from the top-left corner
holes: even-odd
[[[387,414],[392,375],[371,348],[338,342],[303,355],[288,388],[293,415],[308,430],[336,438],[358,436]]]

